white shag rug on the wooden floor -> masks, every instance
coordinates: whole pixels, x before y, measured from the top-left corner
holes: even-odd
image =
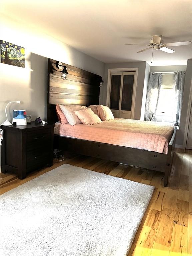
[[[1,196],[1,256],[125,256],[154,187],[64,164]]]

